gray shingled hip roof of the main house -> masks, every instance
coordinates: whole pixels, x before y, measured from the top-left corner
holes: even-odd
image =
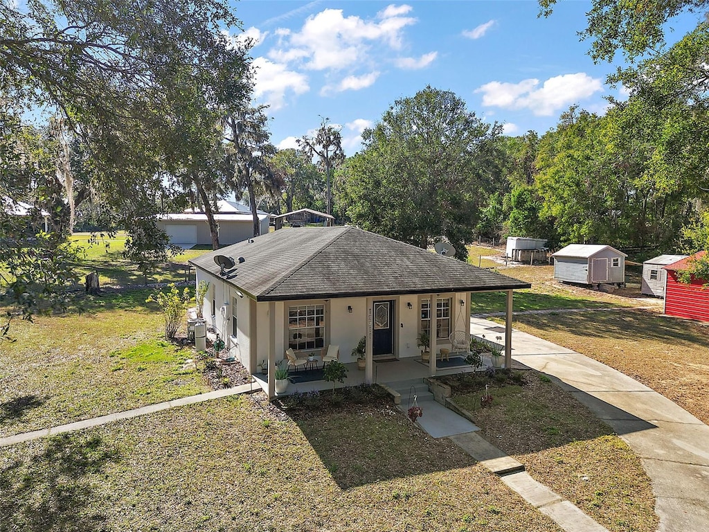
[[[287,229],[190,260],[213,275],[216,255],[233,257],[225,277],[257,301],[529,288],[527,282],[442,257],[355,227]],[[239,263],[238,257],[244,257]]]

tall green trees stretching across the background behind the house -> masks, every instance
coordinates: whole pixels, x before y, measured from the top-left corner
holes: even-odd
[[[707,248],[708,25],[672,46],[663,34],[668,18],[707,2],[630,4],[594,0],[582,33],[594,60],[619,52],[630,65],[609,79],[630,96],[605,115],[573,106],[547,133],[510,137],[425,87],[345,157],[328,119],[297,150],[274,147],[267,108],[251,104],[252,43],[225,35],[240,21],[223,0],[0,0],[9,316],[65,304],[77,224],[124,228],[126,256],[150,265],[169,253],[158,214],[203,209],[218,248],[216,201],[230,194],[251,207],[254,234],[257,208],[310,207],[420,247],[447,240],[459,258],[475,238],[506,234]],[[540,6],[553,16],[553,0]],[[11,216],[21,201],[49,231],[28,235]]]

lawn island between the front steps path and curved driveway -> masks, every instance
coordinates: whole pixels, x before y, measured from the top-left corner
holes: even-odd
[[[493,403],[485,408],[482,377],[445,382],[454,387],[454,401],[473,412],[484,438],[522,462],[535,480],[610,531],[656,530],[649,478],[627,444],[546,375],[520,375],[522,385],[489,381]]]

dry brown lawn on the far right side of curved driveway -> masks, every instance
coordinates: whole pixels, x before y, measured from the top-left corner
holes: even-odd
[[[515,316],[515,328],[637,379],[709,423],[709,329],[630,310]]]

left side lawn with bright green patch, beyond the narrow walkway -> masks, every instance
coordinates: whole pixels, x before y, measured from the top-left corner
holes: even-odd
[[[208,391],[194,356],[162,339],[148,290],[85,297],[65,316],[16,320],[0,344],[0,436]]]

